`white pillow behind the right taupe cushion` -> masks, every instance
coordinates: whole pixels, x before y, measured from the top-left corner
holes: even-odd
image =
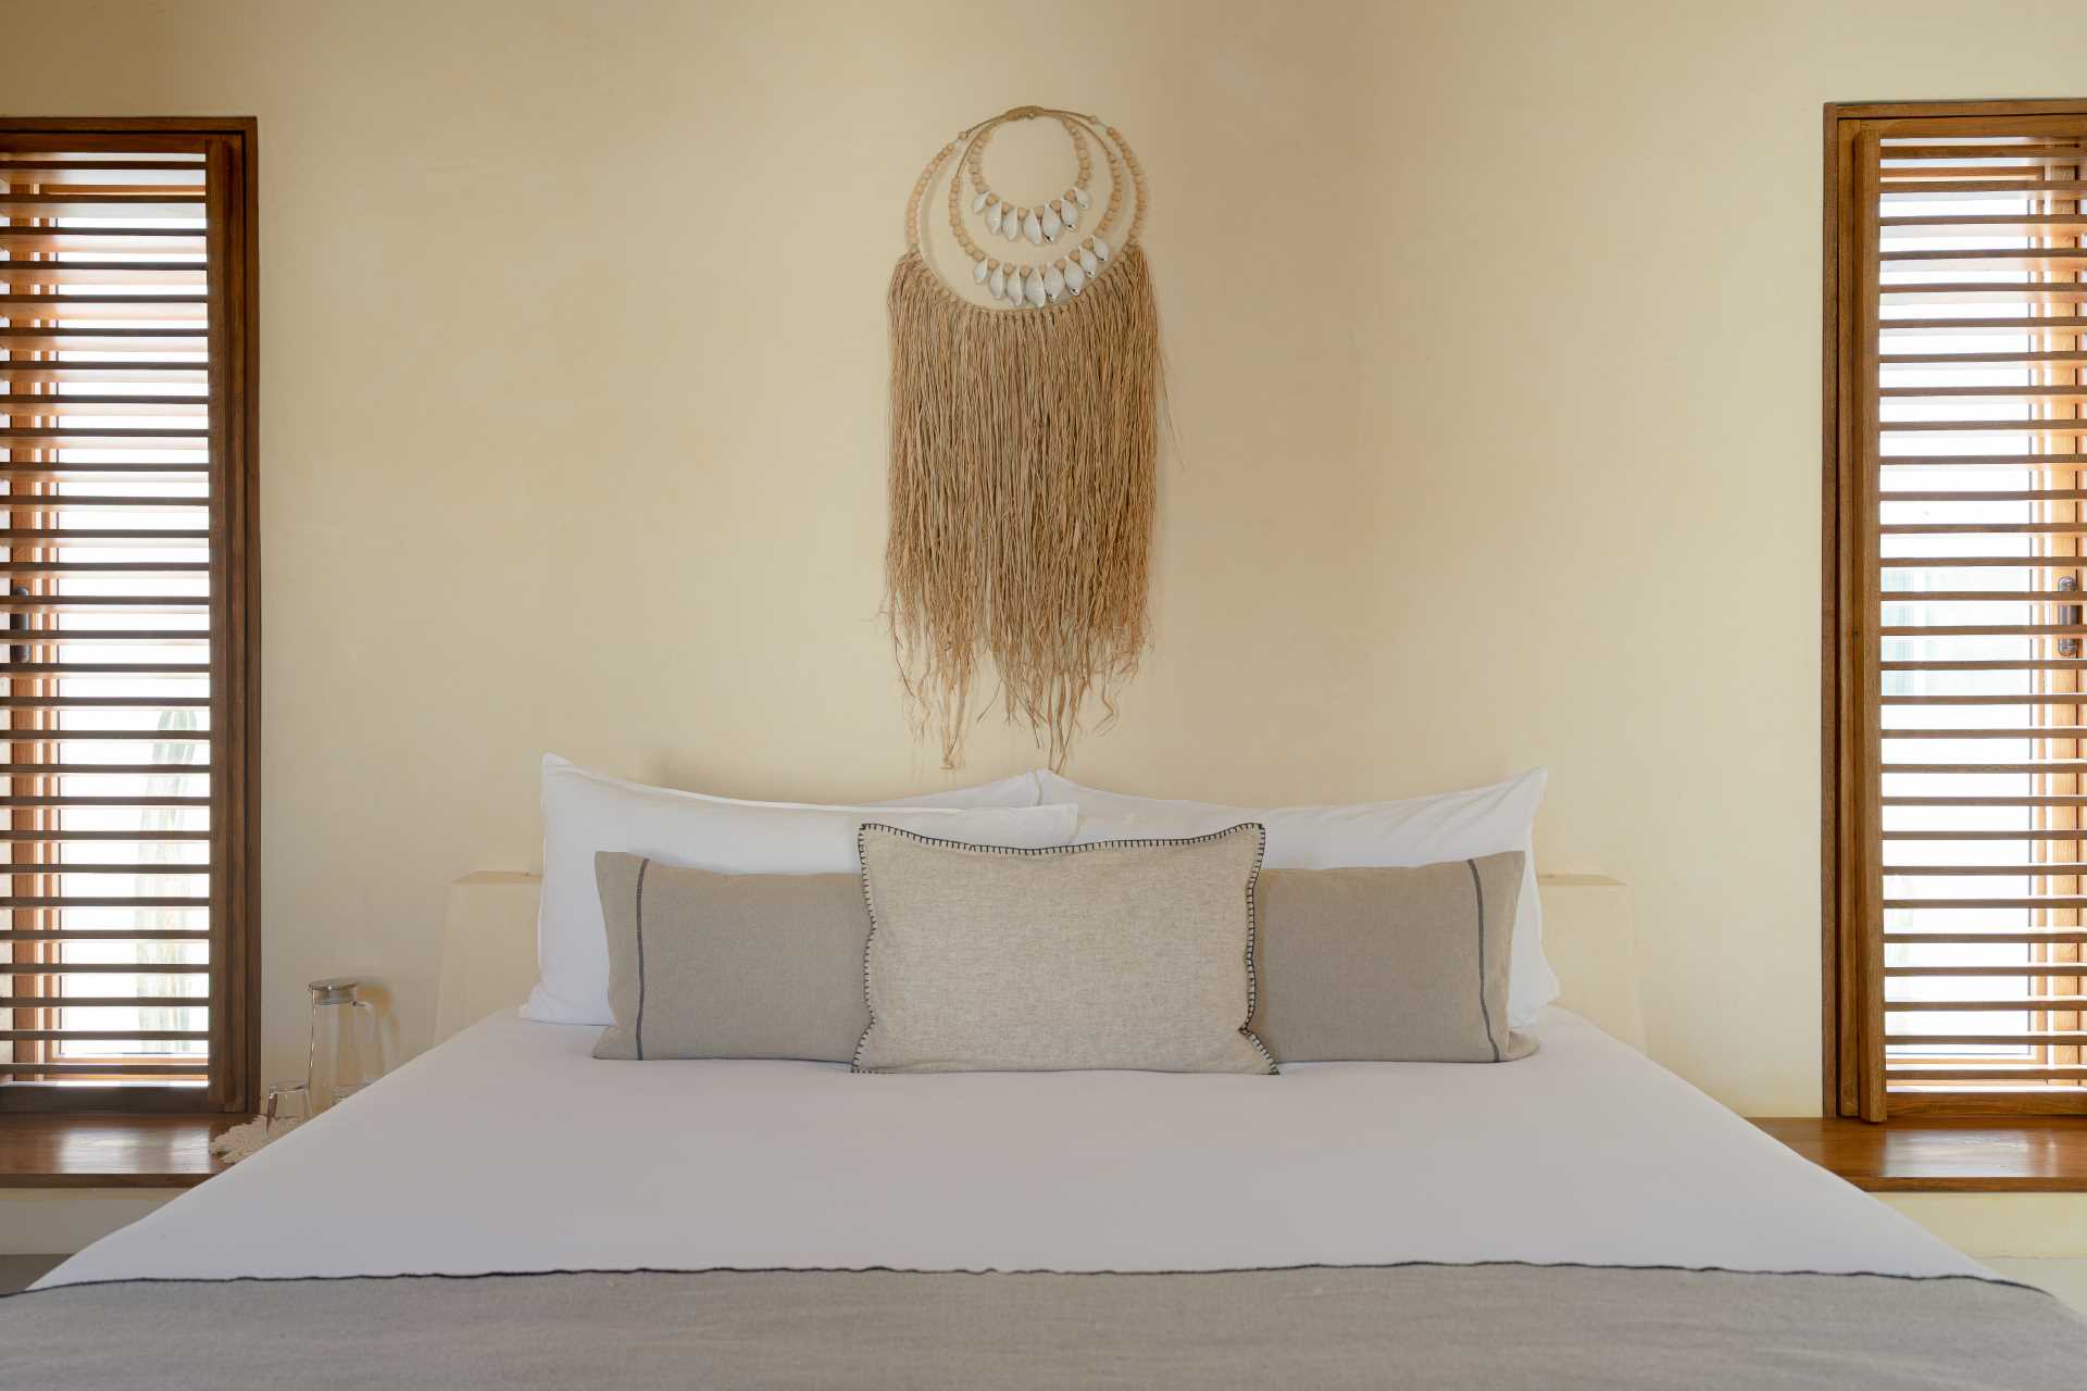
[[[1269,828],[1269,870],[1350,870],[1369,865],[1432,865],[1444,859],[1521,851],[1521,903],[1507,968],[1507,1018],[1517,1028],[1559,997],[1559,978],[1544,959],[1544,916],[1536,897],[1536,807],[1544,770],[1469,792],[1407,801],[1365,801],[1346,807],[1221,807],[1204,801],[1160,801],[1079,786],[1039,772],[1044,801],[1079,807],[1077,845],[1094,840],[1204,836],[1238,822]]]

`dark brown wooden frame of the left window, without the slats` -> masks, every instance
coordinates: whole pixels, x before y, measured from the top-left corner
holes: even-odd
[[[202,1089],[125,1084],[0,1087],[8,1112],[253,1114],[261,1093],[261,546],[259,234],[253,117],[0,117],[0,133],[52,148],[202,148],[211,169],[211,1072]],[[221,254],[219,254],[221,252]],[[163,1059],[161,1059],[163,1061]]]

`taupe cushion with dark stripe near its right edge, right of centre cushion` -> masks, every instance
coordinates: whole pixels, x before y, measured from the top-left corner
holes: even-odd
[[[1511,1061],[1521,851],[1407,870],[1265,870],[1254,1034],[1279,1061]]]

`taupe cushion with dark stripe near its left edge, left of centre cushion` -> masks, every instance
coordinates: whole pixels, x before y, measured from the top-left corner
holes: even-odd
[[[714,874],[595,855],[609,1009],[595,1057],[847,1061],[870,1022],[854,874]]]

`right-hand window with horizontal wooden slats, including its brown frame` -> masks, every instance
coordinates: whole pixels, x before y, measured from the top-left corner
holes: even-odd
[[[2087,106],[1828,127],[1828,1109],[2087,1112]]]

